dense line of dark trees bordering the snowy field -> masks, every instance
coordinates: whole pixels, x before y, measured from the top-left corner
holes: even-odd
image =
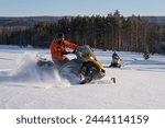
[[[38,22],[34,26],[1,26],[0,45],[47,48],[57,32],[78,45],[103,50],[165,53],[165,26],[141,16],[124,18],[118,10],[107,16],[74,16],[55,23]]]

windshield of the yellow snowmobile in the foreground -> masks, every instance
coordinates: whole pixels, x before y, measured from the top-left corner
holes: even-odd
[[[78,58],[84,58],[85,55],[91,56],[94,59],[96,59],[96,56],[94,55],[91,48],[87,45],[80,46],[77,49],[77,57]]]

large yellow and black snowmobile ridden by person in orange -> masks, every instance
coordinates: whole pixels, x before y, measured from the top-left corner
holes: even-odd
[[[87,45],[78,47],[74,53],[76,58],[69,60],[61,68],[58,72],[63,78],[69,79],[78,77],[80,84],[89,83],[92,80],[102,79],[106,74],[103,66],[97,60],[91,48]],[[38,59],[37,66],[54,67],[56,66],[46,59]],[[74,75],[73,75],[74,74]]]

